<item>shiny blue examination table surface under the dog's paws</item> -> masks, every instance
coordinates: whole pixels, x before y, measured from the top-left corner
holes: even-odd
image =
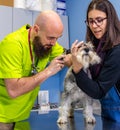
[[[69,119],[67,124],[58,125],[58,111],[49,111],[48,114],[38,114],[32,111],[30,118],[24,122],[16,124],[15,130],[120,130],[120,123],[103,120],[100,115],[96,115],[96,124],[86,124],[82,111],[74,112],[74,118]],[[17,128],[19,127],[19,128]]]

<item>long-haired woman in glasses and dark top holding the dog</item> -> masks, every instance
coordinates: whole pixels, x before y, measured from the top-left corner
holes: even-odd
[[[108,0],[92,0],[88,6],[86,41],[91,41],[102,62],[90,67],[92,79],[77,62],[81,42],[71,47],[77,85],[89,96],[100,99],[102,117],[120,122],[120,22]]]

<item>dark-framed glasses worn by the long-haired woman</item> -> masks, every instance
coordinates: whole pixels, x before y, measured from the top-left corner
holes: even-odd
[[[87,26],[92,26],[94,23],[97,25],[97,26],[101,26],[103,24],[103,21],[107,19],[107,17],[105,18],[101,18],[101,17],[97,17],[95,19],[88,19],[88,20],[85,20],[85,23],[87,24]]]

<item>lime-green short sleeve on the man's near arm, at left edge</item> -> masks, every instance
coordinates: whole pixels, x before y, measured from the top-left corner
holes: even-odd
[[[14,38],[0,43],[0,78],[20,78],[22,74],[22,49]]]

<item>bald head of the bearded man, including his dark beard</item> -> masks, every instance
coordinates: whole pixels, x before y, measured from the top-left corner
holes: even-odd
[[[48,55],[62,34],[63,23],[60,16],[52,10],[41,12],[31,31],[36,56]]]

